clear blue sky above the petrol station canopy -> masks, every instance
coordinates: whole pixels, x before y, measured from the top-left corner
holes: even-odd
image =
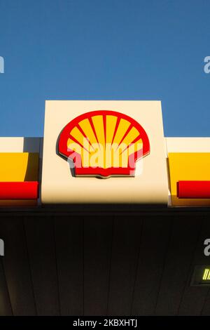
[[[165,136],[210,136],[209,0],[0,0],[0,136],[45,100],[161,100]]]

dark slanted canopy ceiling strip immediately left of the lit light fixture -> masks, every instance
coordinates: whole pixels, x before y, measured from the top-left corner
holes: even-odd
[[[174,213],[173,218],[172,237],[158,294],[156,315],[178,314],[201,226],[196,213]]]

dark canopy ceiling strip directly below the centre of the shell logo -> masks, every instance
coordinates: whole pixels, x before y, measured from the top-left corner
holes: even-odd
[[[84,221],[84,314],[106,315],[113,215],[90,214]]]

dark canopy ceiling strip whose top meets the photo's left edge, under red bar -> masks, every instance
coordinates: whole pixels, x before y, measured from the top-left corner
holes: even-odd
[[[13,313],[36,315],[23,219],[15,213],[1,213],[0,227],[5,242],[3,268]]]

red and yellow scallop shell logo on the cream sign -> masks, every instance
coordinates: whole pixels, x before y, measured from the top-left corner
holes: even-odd
[[[68,159],[75,176],[134,176],[138,159],[150,153],[144,128],[116,111],[86,112],[59,135],[58,153]]]

